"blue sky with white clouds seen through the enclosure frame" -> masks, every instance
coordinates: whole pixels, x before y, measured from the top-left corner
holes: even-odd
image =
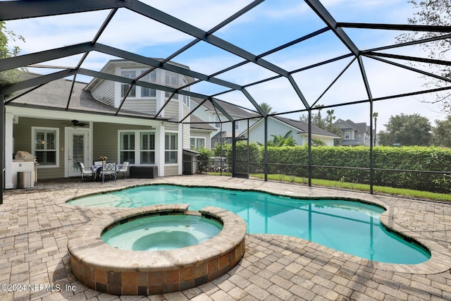
[[[143,2],[202,30],[210,30],[211,27],[225,20],[251,1],[148,0]],[[321,3],[338,22],[399,24],[407,23],[407,18],[412,17],[413,14],[412,5],[408,4],[407,0],[325,0]],[[19,46],[23,49],[22,54],[27,54],[90,41],[108,13],[109,11],[98,11],[68,16],[14,20],[8,21],[6,25],[8,29],[25,37],[26,42],[19,44]],[[304,1],[266,0],[246,13],[245,16],[237,18],[226,27],[218,30],[215,35],[252,54],[261,54],[324,26],[324,23]],[[346,32],[359,49],[394,44],[395,37],[401,33],[382,30],[346,30]],[[121,9],[116,13],[99,42],[136,52],[143,56],[165,58],[192,40],[192,37],[183,32],[178,32],[126,9]],[[307,42],[266,56],[264,59],[291,71],[347,52],[346,47],[329,31]],[[419,48],[397,49],[396,53],[426,56]],[[81,55],[43,64],[76,66],[80,58]],[[89,54],[82,68],[100,70],[109,59],[117,58],[92,53]],[[185,53],[177,56],[173,61],[183,63],[192,70],[209,75],[239,63],[242,59],[205,42],[199,42]],[[350,63],[350,59],[328,64],[315,70],[295,73],[293,77],[309,103],[312,103],[345,68],[347,63]],[[373,90],[373,97],[419,90],[424,85],[424,79],[416,73],[393,68],[369,59],[364,59],[364,63],[369,84]],[[29,68],[29,70],[37,73],[50,73],[56,69]],[[352,64],[317,104],[338,104],[366,98],[359,72],[357,64]],[[235,82],[238,85],[246,85],[257,80],[271,78],[273,75],[275,73],[270,70],[247,63],[237,70],[218,75],[218,78]],[[90,80],[89,78],[78,79]],[[212,94],[225,89],[204,82],[192,86],[191,90]],[[285,78],[249,87],[248,90],[258,103],[267,102],[273,106],[275,111],[304,109]],[[234,104],[251,107],[247,99],[239,92],[223,94],[220,98]],[[408,97],[392,102],[375,102],[374,111],[379,113],[378,126],[386,123],[390,116],[399,113],[420,113],[422,116],[430,118],[432,124],[434,119],[445,117],[443,113],[440,113],[438,106],[421,103],[420,100],[423,99],[432,100],[433,96]],[[297,118],[300,114],[294,113],[289,117]],[[369,105],[339,107],[335,109],[335,116],[342,119],[350,118],[354,122],[369,123]]]

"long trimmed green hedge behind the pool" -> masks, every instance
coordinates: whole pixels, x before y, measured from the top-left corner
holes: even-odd
[[[246,152],[245,145],[238,143],[237,160],[239,161],[237,161],[237,169],[245,168],[246,162],[240,159],[246,158]],[[249,172],[264,171],[264,147],[251,144],[250,154]],[[230,159],[228,158],[228,160],[231,161],[231,154],[229,156]],[[308,157],[308,147],[268,147],[268,173],[307,178]],[[312,167],[312,178],[364,184],[370,182],[368,170],[370,166],[369,147],[312,147],[311,161],[314,166]],[[441,147],[373,147],[373,168],[394,170],[374,171],[374,185],[440,193],[451,192],[450,175],[414,172],[449,172],[451,169],[451,149]]]

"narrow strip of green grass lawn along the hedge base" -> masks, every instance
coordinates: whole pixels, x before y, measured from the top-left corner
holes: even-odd
[[[211,175],[220,175],[220,173],[209,173]],[[231,176],[231,173],[223,173],[223,176]],[[250,174],[249,177],[264,179],[263,173]],[[299,183],[308,184],[308,178],[301,178],[297,176],[285,176],[285,175],[268,175],[268,180],[278,180],[280,182],[286,183]],[[349,183],[337,180],[319,180],[311,179],[311,185],[323,186],[323,187],[335,187],[349,190],[359,190],[359,191],[369,191],[368,184],[359,183]],[[451,201],[451,195],[444,193],[427,192],[420,190],[402,189],[402,188],[391,188],[385,186],[373,186],[373,192],[381,192],[388,195],[402,195],[405,197],[414,197],[419,199],[433,199],[438,201]]]

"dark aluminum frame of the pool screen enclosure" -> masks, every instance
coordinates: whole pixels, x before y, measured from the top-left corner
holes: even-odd
[[[425,94],[430,92],[437,92],[437,91],[446,91],[450,90],[451,87],[443,87],[439,89],[429,89],[429,90],[418,90],[416,92],[410,92],[406,94],[396,94],[396,95],[390,95],[388,97],[379,97],[374,98],[372,96],[371,87],[368,82],[368,78],[365,71],[365,64],[362,60],[363,57],[373,59],[382,63],[387,63],[390,66],[396,66],[399,68],[404,68],[407,70],[411,70],[413,72],[419,73],[421,75],[430,76],[431,78],[435,78],[438,80],[443,80],[444,82],[451,82],[450,79],[443,78],[438,75],[434,75],[433,73],[428,73],[423,70],[419,70],[418,68],[414,68],[411,65],[409,65],[409,61],[412,62],[422,62],[422,63],[433,63],[438,64],[440,66],[451,66],[451,61],[441,61],[441,60],[433,60],[433,59],[424,59],[414,56],[400,56],[396,54],[390,54],[387,52],[382,52],[390,49],[396,49],[397,47],[406,46],[408,44],[419,44],[422,42],[426,42],[426,40],[419,40],[416,42],[410,42],[405,44],[393,44],[393,45],[387,45],[386,47],[380,47],[378,49],[359,49],[356,44],[352,41],[352,39],[346,34],[344,31],[345,28],[359,28],[359,29],[378,29],[378,30],[405,30],[405,31],[428,31],[428,32],[437,32],[445,33],[444,35],[438,35],[438,37],[435,37],[433,39],[428,39],[428,42],[439,39],[450,39],[451,34],[451,27],[450,26],[431,26],[431,25],[393,25],[393,24],[375,24],[375,23],[338,23],[335,18],[328,12],[328,10],[321,4],[321,1],[319,0],[304,0],[304,2],[311,8],[316,15],[323,20],[324,27],[316,30],[314,32],[310,32],[307,35],[304,35],[303,37],[298,37],[297,39],[293,39],[291,42],[288,42],[286,44],[280,45],[274,49],[271,49],[270,51],[266,51],[263,54],[252,54],[249,51],[246,51],[245,49],[242,49],[240,47],[237,47],[235,44],[232,44],[224,39],[221,39],[214,35],[215,32],[220,30],[221,28],[225,27],[226,25],[230,24],[233,20],[236,20],[240,16],[245,15],[249,11],[251,11],[253,8],[256,8],[260,4],[264,3],[264,0],[255,0],[252,1],[249,5],[245,6],[245,8],[242,8],[240,11],[237,11],[232,16],[224,20],[223,22],[219,23],[215,27],[212,27],[208,31],[204,31],[199,29],[198,27],[195,27],[194,25],[191,25],[189,23],[186,23],[183,20],[180,20],[178,18],[175,18],[174,16],[171,16],[167,13],[164,13],[163,11],[159,11],[158,9],[149,6],[147,4],[142,3],[138,0],[101,0],[101,1],[92,1],[92,0],[78,0],[78,1],[61,1],[61,0],[33,0],[33,1],[0,1],[0,21],[8,21],[8,20],[19,20],[19,19],[26,19],[26,18],[39,18],[44,16],[58,16],[68,13],[82,13],[82,12],[89,12],[89,11],[101,11],[101,10],[109,10],[109,16],[104,20],[104,23],[99,27],[99,30],[97,31],[97,34],[94,35],[91,41],[87,41],[80,44],[75,44],[67,47],[61,47],[56,49],[48,49],[45,51],[39,51],[32,54],[25,54],[20,55],[16,57],[11,57],[7,59],[0,59],[0,72],[4,70],[10,70],[14,68],[21,68],[26,66],[32,66],[38,63],[43,63],[46,61],[51,61],[54,59],[60,59],[67,56],[73,56],[75,54],[82,54],[82,59],[80,59],[79,63],[75,68],[67,68],[66,70],[61,70],[56,73],[51,73],[49,75],[42,75],[38,78],[33,78],[31,80],[24,80],[22,82],[16,82],[9,85],[0,86],[0,100],[2,100],[2,106],[3,106],[3,112],[4,112],[4,106],[7,106],[12,100],[8,100],[6,102],[6,95],[11,94],[13,92],[18,92],[20,90],[26,89],[26,88],[33,88],[33,87],[40,87],[42,85],[47,84],[48,82],[51,82],[53,80],[61,79],[61,78],[67,78],[68,76],[73,76],[73,82],[75,82],[75,78],[77,75],[89,75],[94,78],[103,78],[105,80],[112,80],[115,82],[122,82],[125,84],[130,85],[130,89],[133,85],[139,85],[141,87],[149,87],[156,90],[163,90],[166,92],[170,92],[172,95],[174,94],[183,94],[190,97],[198,97],[199,99],[204,99],[204,102],[210,102],[218,111],[220,111],[223,116],[226,116],[227,121],[230,123],[235,123],[233,120],[233,117],[228,114],[228,112],[221,106],[221,104],[218,102],[218,100],[221,100],[221,94],[224,94],[226,92],[240,92],[245,99],[250,104],[249,110],[255,112],[258,116],[261,116],[261,118],[264,118],[264,124],[265,129],[267,130],[267,118],[268,114],[264,112],[263,109],[259,106],[257,101],[254,99],[251,93],[247,90],[248,87],[252,87],[254,85],[259,85],[265,82],[269,82],[271,80],[277,79],[277,78],[285,78],[285,80],[288,80],[290,82],[290,85],[292,89],[294,90],[295,94],[297,95],[297,98],[299,99],[299,103],[302,104],[304,109],[298,110],[298,111],[292,111],[292,112],[307,112],[309,116],[309,185],[311,185],[311,113],[312,111],[315,111],[317,108],[314,106],[319,101],[319,99],[316,99],[314,102],[309,102],[304,97],[304,94],[302,90],[299,88],[299,85],[297,84],[296,80],[293,78],[293,74],[302,72],[303,70],[308,70],[310,68],[316,68],[319,66],[326,65],[328,63],[333,63],[335,61],[340,61],[343,59],[349,59],[353,58],[352,62],[354,60],[357,60],[358,66],[360,68],[362,80],[364,82],[364,87],[366,89],[366,99],[362,99],[361,101],[357,102],[345,102],[341,104],[335,104],[333,106],[323,106],[322,109],[328,108],[328,107],[335,107],[335,106],[345,106],[350,104],[359,104],[359,103],[368,103],[369,104],[369,118],[371,120],[370,122],[370,135],[371,135],[371,144],[370,144],[370,183],[371,183],[371,193],[373,193],[373,119],[371,118],[373,114],[373,102],[377,102],[379,100],[386,100],[386,99],[395,99],[397,97],[405,97],[409,95],[416,95],[416,94]],[[184,47],[181,47],[177,51],[175,51],[170,56],[166,57],[162,60],[156,60],[156,59],[150,59],[145,56],[141,56],[138,54],[133,54],[128,51],[124,51],[122,49],[118,49],[115,47],[111,47],[109,45],[100,44],[98,42],[99,37],[101,37],[102,33],[108,27],[111,20],[114,18],[116,12],[119,9],[127,9],[133,13],[137,13],[140,16],[144,16],[145,18],[149,18],[152,20],[155,20],[158,23],[161,23],[163,25],[167,25],[168,27],[171,27],[175,30],[178,30],[180,32],[185,33],[186,35],[190,35],[192,37],[192,42],[186,44]],[[322,35],[325,32],[333,32],[333,35],[338,37],[342,44],[345,45],[345,47],[348,49],[348,53],[344,54],[342,56],[335,57],[334,59],[328,59],[326,61],[321,61],[319,63],[315,63],[311,66],[306,66],[301,69],[297,70],[285,70],[284,68],[281,68],[280,66],[277,66],[274,63],[271,63],[264,59],[265,56],[268,56],[270,54],[274,54],[278,51],[282,51],[283,49],[286,49],[287,47],[290,47],[295,44],[302,43],[304,41],[307,41],[311,39],[312,37],[316,37],[318,35]],[[228,54],[233,54],[234,56],[239,57],[243,61],[240,63],[236,63],[233,66],[228,66],[228,68],[224,68],[223,70],[220,70],[214,74],[208,75],[199,73],[195,70],[190,70],[186,68],[181,68],[178,66],[174,66],[173,64],[168,63],[173,59],[175,56],[178,56],[179,54],[183,53],[184,51],[187,51],[191,47],[193,47],[195,44],[199,42],[206,42],[210,44],[213,47],[218,47],[219,49],[223,49],[224,51],[227,51]],[[96,70],[87,70],[85,68],[81,68],[83,61],[85,61],[87,55],[91,51],[97,51],[103,54],[109,54],[112,56],[117,56],[122,59],[130,60],[130,61],[136,61],[139,63],[144,63],[148,66],[151,66],[149,70],[146,71],[143,75],[140,75],[139,77],[135,79],[129,79],[129,78],[123,78],[118,75],[111,75],[107,73],[102,73]],[[395,63],[393,61],[390,61],[390,59],[400,59],[407,61],[407,63]],[[275,73],[271,78],[265,78],[264,80],[259,80],[257,82],[252,82],[248,85],[239,85],[235,82],[230,82],[227,80],[221,80],[218,78],[218,75],[221,75],[222,73],[226,73],[229,70],[233,70],[235,68],[239,68],[240,66],[244,66],[246,64],[255,64],[261,68],[271,70],[272,73]],[[185,87],[166,87],[163,85],[156,85],[150,82],[144,82],[140,80],[145,74],[152,72],[152,70],[156,68],[161,68],[163,70],[169,70],[174,73],[178,73],[181,75],[186,75],[191,78],[194,78],[194,83],[205,81],[209,82],[215,85],[219,85],[221,87],[225,87],[225,92],[220,92],[216,94],[199,94],[190,92],[187,90],[183,90],[185,87],[189,86],[186,85]],[[344,73],[346,69],[342,71]],[[340,73],[340,75],[342,74]],[[337,80],[340,75],[335,79]],[[335,81],[334,81],[335,82]],[[330,86],[333,85],[333,82],[330,84]],[[329,87],[330,87],[329,86]],[[328,88],[329,88],[328,87]],[[326,89],[326,91],[328,90]],[[130,91],[130,90],[129,90]],[[325,92],[326,92],[325,91]],[[68,104],[66,106],[66,110],[70,111],[70,94],[71,91],[68,92]],[[321,97],[320,97],[321,98]],[[123,97],[121,106],[118,108],[118,111],[116,112],[116,115],[120,113],[122,104],[127,101],[127,95]],[[166,106],[167,102],[163,104],[163,106],[159,109],[160,111],[164,109],[164,106]],[[245,106],[243,106],[245,107]],[[193,109],[190,113],[193,113],[195,109]],[[282,112],[282,113],[292,113],[292,112]],[[157,118],[158,112],[154,116],[154,118]],[[278,113],[281,114],[281,113]],[[275,114],[273,114],[275,115]],[[1,149],[2,149],[2,169],[4,169],[5,166],[5,154],[4,154],[4,128],[5,128],[5,120],[4,115],[2,115],[2,120],[0,121],[1,126],[1,133],[2,139],[1,139]],[[186,118],[186,117],[185,117]],[[177,121],[178,123],[184,123],[185,118],[181,119],[180,121]],[[221,121],[224,122],[224,121]],[[266,132],[265,130],[265,132]],[[268,164],[266,154],[267,154],[267,141],[265,139],[265,158],[264,162],[265,164]],[[267,180],[267,168],[264,168],[265,170],[265,180]],[[233,169],[235,171],[235,168]],[[4,173],[1,174],[1,182],[4,185]],[[1,199],[0,199],[1,202]]]

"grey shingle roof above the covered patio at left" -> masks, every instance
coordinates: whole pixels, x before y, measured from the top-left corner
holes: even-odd
[[[22,73],[20,76],[23,80],[29,80],[41,75],[36,73]],[[116,113],[116,108],[97,101],[94,97],[92,97],[91,93],[83,90],[85,86],[85,82],[75,82],[68,106],[70,111],[82,111],[85,113]],[[17,99],[14,99],[8,105],[34,106],[40,109],[66,109],[71,87],[72,80],[66,80],[64,78],[53,80],[35,90],[27,89],[16,92],[16,94],[11,95],[10,99],[20,96],[20,94],[24,92],[30,91],[27,94],[23,94]],[[8,101],[8,99],[6,99],[6,101]],[[150,117],[149,114],[123,109],[121,109],[119,115]]]

